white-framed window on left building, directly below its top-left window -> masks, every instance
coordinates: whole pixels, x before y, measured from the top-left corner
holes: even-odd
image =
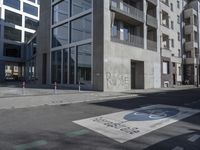
[[[22,26],[22,15],[5,10],[5,22]]]

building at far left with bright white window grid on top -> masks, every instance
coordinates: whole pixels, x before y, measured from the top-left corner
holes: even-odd
[[[0,0],[0,81],[24,77],[24,43],[38,28],[39,3],[39,0]]]

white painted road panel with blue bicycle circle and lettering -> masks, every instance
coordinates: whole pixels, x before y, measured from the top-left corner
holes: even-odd
[[[151,105],[73,122],[124,143],[199,112],[185,107]]]

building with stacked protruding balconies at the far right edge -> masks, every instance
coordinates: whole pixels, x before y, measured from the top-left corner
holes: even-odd
[[[200,2],[188,1],[184,9],[184,79],[189,84],[199,84]]]

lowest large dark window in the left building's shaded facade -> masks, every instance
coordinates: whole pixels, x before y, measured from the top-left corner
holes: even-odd
[[[4,56],[21,57],[21,46],[4,43]]]

